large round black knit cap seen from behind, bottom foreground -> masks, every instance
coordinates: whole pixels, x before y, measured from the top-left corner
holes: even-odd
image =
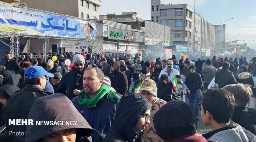
[[[164,140],[193,135],[197,130],[194,112],[188,103],[180,100],[167,102],[156,112],[153,121],[157,135]]]

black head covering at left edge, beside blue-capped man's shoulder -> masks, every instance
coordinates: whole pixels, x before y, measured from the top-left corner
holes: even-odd
[[[16,91],[19,91],[20,89],[14,85],[4,85],[0,87],[0,98],[4,98],[6,100],[9,100],[9,98],[12,96],[12,94]]]

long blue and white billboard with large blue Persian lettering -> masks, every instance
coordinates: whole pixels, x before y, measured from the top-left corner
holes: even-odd
[[[97,29],[89,21],[0,5],[0,31],[95,39]]]

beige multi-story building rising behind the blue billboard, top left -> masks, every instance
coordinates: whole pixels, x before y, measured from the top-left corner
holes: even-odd
[[[8,0],[7,0],[8,1]],[[15,0],[14,0],[15,1]],[[83,19],[99,19],[102,0],[19,0],[27,7],[48,12],[75,16]]]

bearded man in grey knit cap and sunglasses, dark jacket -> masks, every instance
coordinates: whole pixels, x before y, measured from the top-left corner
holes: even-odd
[[[57,93],[63,93],[69,99],[76,96],[76,89],[83,89],[83,72],[88,67],[85,58],[81,54],[76,54],[73,57],[73,64],[72,70],[62,75],[62,80],[56,89]]]

